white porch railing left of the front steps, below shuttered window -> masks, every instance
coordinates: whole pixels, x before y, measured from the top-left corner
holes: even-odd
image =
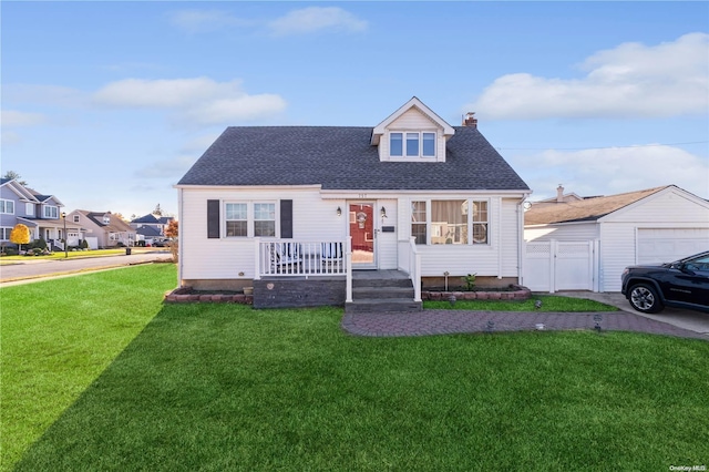
[[[256,279],[348,274],[351,278],[351,249],[345,240],[255,239]]]

